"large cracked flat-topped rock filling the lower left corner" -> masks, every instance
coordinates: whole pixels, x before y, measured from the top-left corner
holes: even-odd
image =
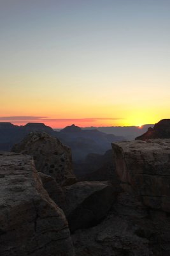
[[[67,220],[32,157],[1,153],[0,166],[0,255],[73,256]]]

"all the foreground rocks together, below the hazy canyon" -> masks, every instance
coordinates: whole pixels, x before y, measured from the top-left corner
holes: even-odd
[[[112,147],[108,181],[77,182],[69,149],[39,132],[2,152],[0,255],[170,255],[170,140]]]

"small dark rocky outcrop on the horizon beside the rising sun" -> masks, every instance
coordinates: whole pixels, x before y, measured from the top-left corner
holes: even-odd
[[[153,128],[149,127],[147,132],[138,136],[135,140],[149,140],[157,138],[170,138],[170,119],[160,120]]]

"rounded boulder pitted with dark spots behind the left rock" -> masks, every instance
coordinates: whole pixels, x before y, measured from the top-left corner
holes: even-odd
[[[31,132],[11,151],[33,156],[36,170],[51,175],[61,186],[76,182],[71,149],[45,132]]]

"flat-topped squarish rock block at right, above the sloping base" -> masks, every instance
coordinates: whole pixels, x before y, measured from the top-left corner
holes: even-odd
[[[170,212],[170,140],[120,142],[112,147],[125,191],[152,209]]]

